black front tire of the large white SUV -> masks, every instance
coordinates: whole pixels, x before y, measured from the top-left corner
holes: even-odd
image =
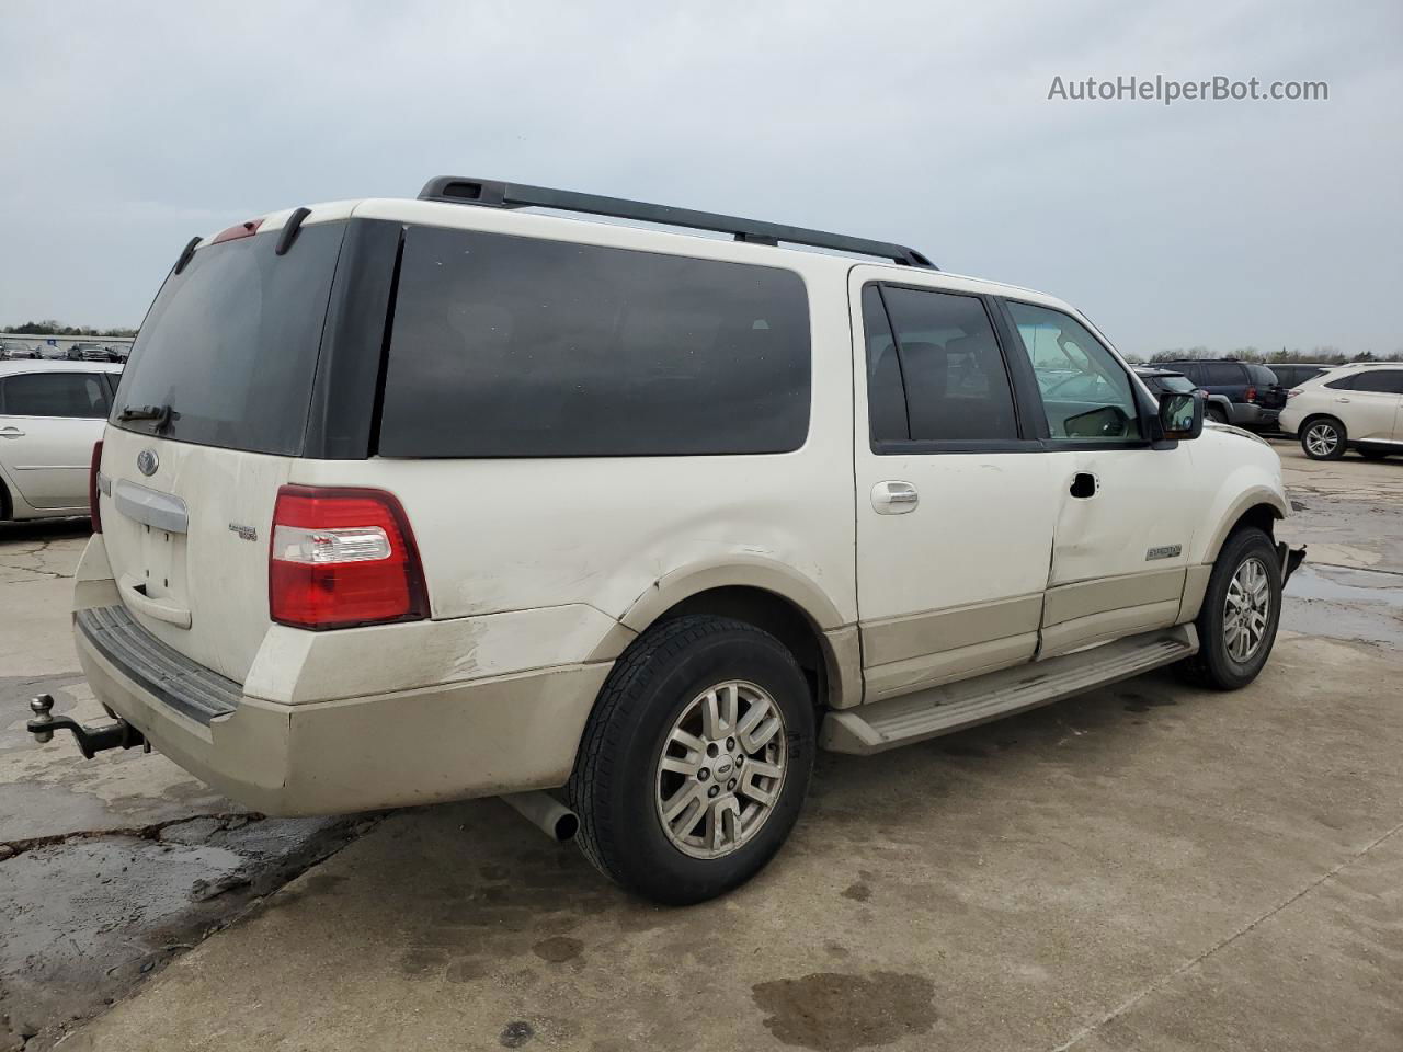
[[[1249,564],[1258,564],[1264,585],[1266,612],[1260,635],[1250,652],[1243,654],[1240,635],[1232,631],[1242,584],[1251,579]],[[1239,578],[1239,574],[1243,578]],[[1235,578],[1237,588],[1233,588]],[[1251,589],[1254,591],[1254,589]],[[1229,602],[1232,598],[1232,603]],[[1271,656],[1281,621],[1281,565],[1271,537],[1256,527],[1233,533],[1214,562],[1204,593],[1204,606],[1194,627],[1198,630],[1198,654],[1183,665],[1186,675],[1200,686],[1237,690],[1257,677]],[[1251,640],[1249,638],[1249,644]]]

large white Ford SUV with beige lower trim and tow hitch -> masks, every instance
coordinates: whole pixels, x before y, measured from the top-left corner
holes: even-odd
[[[118,391],[74,630],[121,718],[31,729],[265,812],[512,794],[696,902],[818,748],[1250,682],[1281,466],[1201,425],[901,245],[462,178],[275,213],[187,247]]]

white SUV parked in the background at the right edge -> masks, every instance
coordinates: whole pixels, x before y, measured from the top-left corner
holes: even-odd
[[[1403,453],[1403,362],[1358,362],[1287,391],[1278,426],[1299,435],[1312,460],[1347,449],[1369,460]]]

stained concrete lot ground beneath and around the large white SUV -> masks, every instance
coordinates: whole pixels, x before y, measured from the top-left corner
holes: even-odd
[[[0,1013],[45,1030],[112,997],[63,1042],[104,1052],[1396,1052],[1403,461],[1278,450],[1298,506],[1282,537],[1310,562],[1250,689],[1156,675],[880,759],[825,755],[776,863],[687,910],[623,898],[498,801],[230,844],[267,823],[160,756],[25,746],[14,703],[36,687],[95,717],[62,579],[81,537],[0,534],[0,843],[18,844]],[[123,861],[139,844],[154,856]],[[257,886],[192,902],[212,872]],[[74,924],[93,903],[118,913],[105,931]],[[223,930],[181,955],[202,923]],[[59,952],[67,937],[84,952]],[[41,996],[109,968],[97,1004]]]

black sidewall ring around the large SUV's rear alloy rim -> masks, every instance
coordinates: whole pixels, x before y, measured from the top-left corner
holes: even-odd
[[[662,829],[657,764],[683,708],[707,687],[732,679],[766,690],[784,717],[784,784],[765,825],[744,847],[723,858],[694,858],[676,849]],[[629,720],[630,734],[595,801],[610,809],[610,826],[627,840],[610,851],[617,879],[650,899],[685,905],[721,895],[759,872],[798,819],[817,745],[808,683],[788,651],[766,633],[735,624],[687,647],[629,697],[615,718]]]

